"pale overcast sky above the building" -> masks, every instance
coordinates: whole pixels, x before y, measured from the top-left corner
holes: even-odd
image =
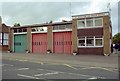
[[[9,1],[9,2],[8,2]],[[49,1],[49,2],[48,2]],[[77,2],[76,2],[77,1]],[[118,32],[118,1],[119,0],[4,0],[0,2],[2,22],[13,26],[40,24],[49,21],[59,22],[62,19],[71,20],[72,15],[82,15],[108,11],[110,2],[113,35]],[[70,6],[71,5],[71,6]]]

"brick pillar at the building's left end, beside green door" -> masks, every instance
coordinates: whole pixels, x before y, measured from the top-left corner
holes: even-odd
[[[14,44],[13,33],[14,33],[14,30],[12,28],[9,28],[8,50],[10,50],[10,51],[14,51],[13,50],[13,44]]]

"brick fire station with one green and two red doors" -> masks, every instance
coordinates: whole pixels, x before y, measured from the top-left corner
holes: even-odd
[[[111,53],[112,27],[108,12],[75,15],[71,21],[11,27],[9,50],[33,54]]]

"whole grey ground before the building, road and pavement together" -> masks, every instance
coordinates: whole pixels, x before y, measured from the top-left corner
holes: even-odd
[[[3,79],[119,79],[117,56],[3,53],[1,66]]]

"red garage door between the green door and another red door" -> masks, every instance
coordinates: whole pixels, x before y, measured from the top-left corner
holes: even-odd
[[[32,34],[32,52],[46,53],[47,51],[47,34]]]

